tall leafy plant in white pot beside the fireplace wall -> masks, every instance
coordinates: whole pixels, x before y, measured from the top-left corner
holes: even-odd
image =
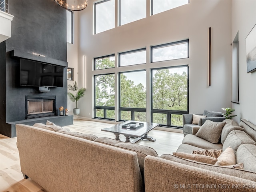
[[[76,102],[76,108],[73,109],[73,113],[75,115],[80,114],[80,108],[77,107],[77,102],[84,96],[84,92],[86,91],[86,88],[80,88],[78,89],[76,81],[72,84],[68,85],[68,90],[74,91],[75,93],[68,92],[68,97],[72,102]]]

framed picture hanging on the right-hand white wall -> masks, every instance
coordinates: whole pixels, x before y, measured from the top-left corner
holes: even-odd
[[[245,38],[247,73],[256,71],[256,25]]]

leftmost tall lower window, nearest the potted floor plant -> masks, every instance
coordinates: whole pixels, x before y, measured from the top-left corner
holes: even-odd
[[[115,119],[115,75],[94,76],[94,117]]]

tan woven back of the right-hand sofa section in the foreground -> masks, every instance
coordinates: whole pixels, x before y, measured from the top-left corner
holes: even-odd
[[[256,182],[153,156],[145,158],[144,168],[146,192],[256,191]]]

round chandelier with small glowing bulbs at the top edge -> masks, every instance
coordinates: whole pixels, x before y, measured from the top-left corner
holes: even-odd
[[[80,11],[87,7],[87,0],[54,0],[59,6],[71,10]]]

